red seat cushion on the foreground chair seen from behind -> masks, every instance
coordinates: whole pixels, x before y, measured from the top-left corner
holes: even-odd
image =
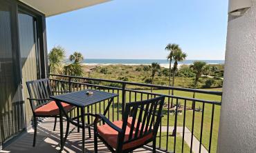
[[[131,129],[131,121],[132,121],[132,117],[128,118],[127,121],[127,128],[125,131],[125,141],[127,141],[129,139],[129,132]],[[118,128],[122,128],[122,121],[114,121],[113,122],[114,125],[116,125]],[[136,128],[136,123],[134,124],[134,132],[133,132],[133,136],[135,134],[135,128]],[[113,130],[113,128],[111,128],[109,125],[105,124],[105,125],[100,125],[98,126],[98,133],[100,134],[100,136],[102,136],[102,138],[113,148],[116,148],[118,145],[118,132],[116,130]],[[140,129],[138,131],[138,134],[140,133]],[[151,139],[153,136],[153,133],[151,132],[150,134],[147,134],[147,136],[144,136],[143,138],[140,138],[136,141],[131,141],[129,143],[125,143],[124,145],[122,145],[122,150],[127,150],[131,147],[136,147],[138,145],[143,145],[145,143],[145,141],[147,141],[148,139]]]

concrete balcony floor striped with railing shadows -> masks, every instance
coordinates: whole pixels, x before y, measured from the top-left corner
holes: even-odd
[[[34,130],[29,130],[26,134],[17,139],[17,141],[8,145],[8,147],[0,150],[0,152],[19,152],[19,153],[45,153],[45,152],[59,152],[60,150],[60,122],[57,121],[56,130],[53,131],[54,119],[48,118],[44,119],[44,121],[40,122],[37,128],[37,142],[35,147],[33,147],[33,132]],[[65,124],[66,122],[64,122]],[[64,125],[64,130],[66,130],[66,125]],[[71,134],[68,135],[68,139],[64,146],[64,150],[62,152],[82,152],[82,131],[80,133],[77,132],[77,128],[71,124],[70,127]],[[88,129],[86,129],[86,141],[85,141],[85,151],[86,152],[94,152],[93,145],[93,130],[92,137],[89,139]],[[98,152],[107,153],[109,150],[102,143],[98,143]],[[134,152],[152,152],[149,147],[142,147]]]

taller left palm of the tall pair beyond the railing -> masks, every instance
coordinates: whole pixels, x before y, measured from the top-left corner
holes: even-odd
[[[179,48],[179,45],[177,45],[176,43],[169,43],[168,45],[166,45],[165,50],[168,50],[170,53],[167,56],[167,60],[170,61],[169,64],[169,86],[171,86],[171,70],[172,70],[172,60],[174,57],[174,52],[176,50],[181,50],[181,48]],[[174,84],[172,84],[174,85]],[[170,90],[169,90],[169,94],[170,94]]]

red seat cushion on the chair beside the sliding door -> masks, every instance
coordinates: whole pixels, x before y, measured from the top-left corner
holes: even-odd
[[[69,105],[67,103],[62,103],[64,110],[68,111],[73,108],[73,105]],[[60,114],[59,108],[56,105],[55,101],[51,101],[46,103],[46,105],[42,105],[40,108],[35,110],[36,115],[58,115]]]

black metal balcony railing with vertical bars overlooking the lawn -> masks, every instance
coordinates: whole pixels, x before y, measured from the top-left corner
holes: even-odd
[[[85,89],[119,94],[107,114],[111,121],[122,119],[125,103],[164,95],[164,117],[161,128],[158,130],[156,143],[158,150],[164,152],[217,151],[222,92],[60,74],[50,74],[49,78],[55,94]],[[174,95],[168,94],[170,90],[174,90]],[[102,101],[89,106],[85,111],[103,113],[105,107],[107,107],[107,101]],[[79,110],[74,110],[70,115],[75,116],[77,111]]]

